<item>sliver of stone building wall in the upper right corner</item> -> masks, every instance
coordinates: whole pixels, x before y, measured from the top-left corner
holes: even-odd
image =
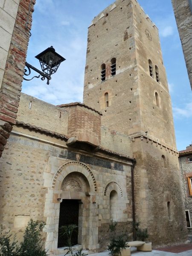
[[[192,88],[192,7],[189,1],[172,0],[172,5]]]

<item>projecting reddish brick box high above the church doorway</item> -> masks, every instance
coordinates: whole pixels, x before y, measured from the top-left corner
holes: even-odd
[[[98,146],[101,143],[101,116],[81,106],[69,107],[68,136]]]

